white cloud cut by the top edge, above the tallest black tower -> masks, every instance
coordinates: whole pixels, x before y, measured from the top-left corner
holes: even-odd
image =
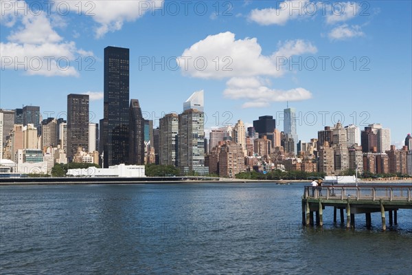
[[[82,4],[82,13],[98,23],[95,27],[96,38],[102,38],[107,32],[121,30],[124,22],[133,22],[147,12],[156,13],[163,8],[163,0],[119,0],[119,1],[55,1],[70,5],[70,11],[78,13],[79,3]],[[159,13],[159,12],[158,12]]]

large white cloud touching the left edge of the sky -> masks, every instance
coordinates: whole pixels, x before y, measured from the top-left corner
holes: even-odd
[[[16,1],[10,4],[17,5]],[[29,9],[25,1],[19,1],[19,7]],[[93,56],[92,52],[78,49],[73,41],[63,41],[45,12],[15,14],[13,9],[2,12],[5,18],[2,23],[14,28],[7,42],[0,43],[2,69],[19,69],[29,75],[78,76],[73,67],[76,58],[84,54]]]

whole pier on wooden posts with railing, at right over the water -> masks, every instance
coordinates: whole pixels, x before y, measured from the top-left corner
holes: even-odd
[[[389,225],[398,224],[398,210],[412,209],[412,186],[305,186],[302,196],[302,224],[323,226],[323,210],[333,207],[333,221],[336,223],[339,209],[340,222],[346,228],[355,228],[355,214],[365,214],[366,226],[371,228],[371,213],[380,212],[382,230],[386,230],[388,212]],[[315,220],[314,220],[315,217]]]

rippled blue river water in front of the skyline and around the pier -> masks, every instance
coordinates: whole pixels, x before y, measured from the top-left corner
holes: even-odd
[[[303,184],[0,187],[0,274],[412,274],[412,211],[301,228]]]

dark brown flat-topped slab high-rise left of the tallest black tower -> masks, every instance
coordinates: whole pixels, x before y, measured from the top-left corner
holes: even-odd
[[[67,158],[71,161],[78,147],[89,151],[89,95],[67,96]]]

